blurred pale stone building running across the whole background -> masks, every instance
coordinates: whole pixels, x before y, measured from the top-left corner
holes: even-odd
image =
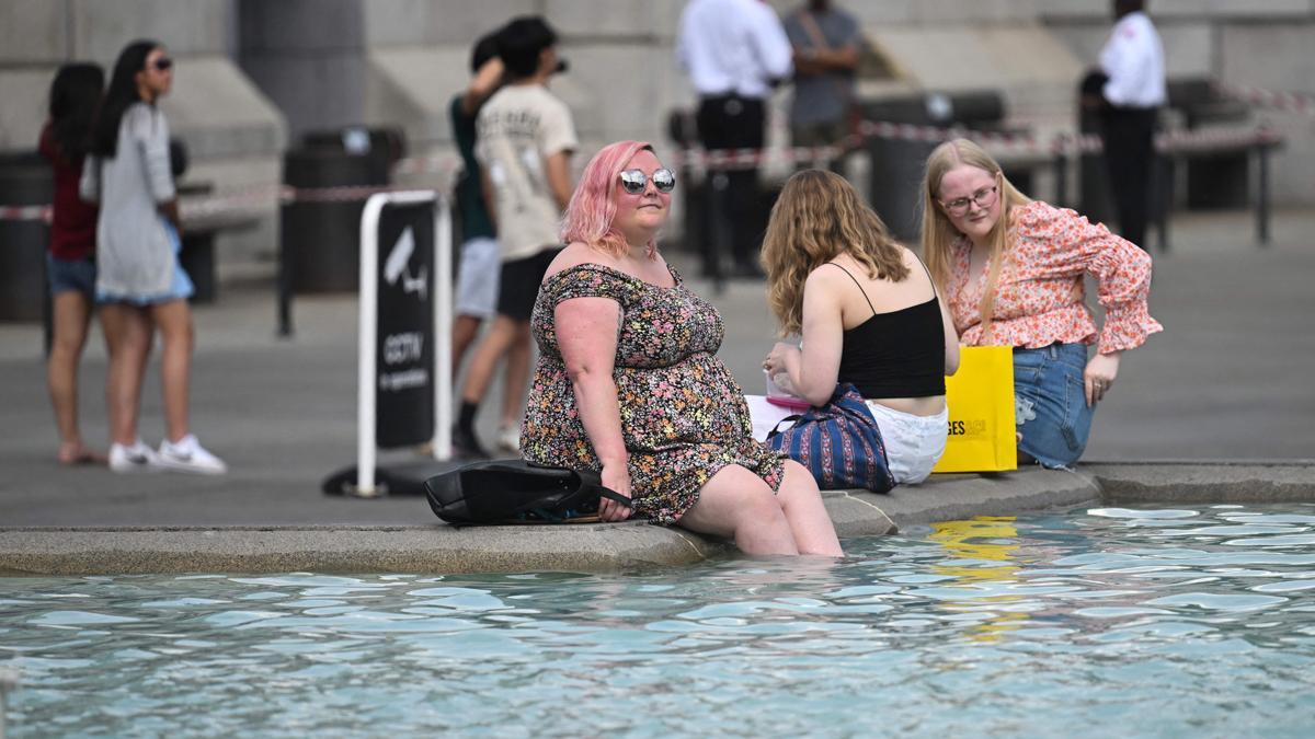
[[[772,0],[788,12],[803,0]],[[999,125],[1039,137],[1076,130],[1076,89],[1110,25],[1106,0],[847,0],[871,54],[860,96],[998,96]],[[113,64],[129,41],[162,41],[178,59],[163,108],[189,151],[188,180],[216,191],[283,181],[283,153],[308,134],[396,128],[412,156],[452,153],[447,103],[468,78],[469,46],[508,18],[538,13],[563,36],[569,74],[554,89],[583,142],[639,138],[673,146],[668,117],[694,96],[677,67],[677,0],[0,0],[0,151],[32,150],[55,68]],[[1152,0],[1170,83],[1220,80],[1315,91],[1315,0]],[[785,85],[772,145],[785,145]],[[1315,117],[1233,107],[1287,143],[1274,163],[1278,205],[1315,204]],[[397,181],[437,184],[442,172]],[[1039,172],[1032,187],[1048,193]],[[277,208],[221,234],[224,270],[272,267]],[[262,267],[263,266],[263,267]]]

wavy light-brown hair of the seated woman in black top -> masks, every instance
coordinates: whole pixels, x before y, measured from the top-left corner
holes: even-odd
[[[767,302],[782,337],[801,330],[809,274],[842,254],[863,264],[869,279],[898,283],[909,276],[886,225],[844,178],[826,170],[794,174],[772,206],[763,238]]]

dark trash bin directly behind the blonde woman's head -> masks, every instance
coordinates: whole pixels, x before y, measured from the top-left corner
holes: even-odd
[[[994,92],[924,93],[861,105],[868,121],[922,126],[993,130],[1005,117],[1005,101]],[[872,137],[867,142],[872,158],[868,189],[872,208],[898,239],[917,239],[922,230],[922,176],[927,156],[939,143],[894,137]]]

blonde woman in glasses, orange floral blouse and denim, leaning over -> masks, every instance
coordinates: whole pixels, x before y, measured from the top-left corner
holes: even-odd
[[[961,138],[927,158],[922,249],[959,341],[1014,347],[1019,462],[1072,465],[1119,358],[1164,330],[1147,312],[1151,256],[1073,210],[1030,200]],[[1105,308],[1099,329],[1084,275]]]

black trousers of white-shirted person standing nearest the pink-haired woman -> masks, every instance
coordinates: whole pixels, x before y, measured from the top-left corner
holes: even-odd
[[[698,139],[705,149],[763,149],[767,128],[767,113],[763,100],[755,97],[740,97],[738,95],[717,95],[704,97],[698,104]],[[725,180],[718,174],[710,172],[709,205],[721,203],[722,213],[713,213],[707,209],[704,238],[704,272],[711,274],[718,267],[714,266],[714,251],[710,250],[709,238],[717,238],[715,229],[707,225],[715,224],[715,218],[726,218],[730,233],[731,256],[738,267],[748,267],[757,263],[757,241],[767,222],[757,203],[757,166],[750,168],[735,168],[725,172]],[[725,189],[715,197],[711,192],[725,181]],[[714,199],[715,197],[715,199]]]

